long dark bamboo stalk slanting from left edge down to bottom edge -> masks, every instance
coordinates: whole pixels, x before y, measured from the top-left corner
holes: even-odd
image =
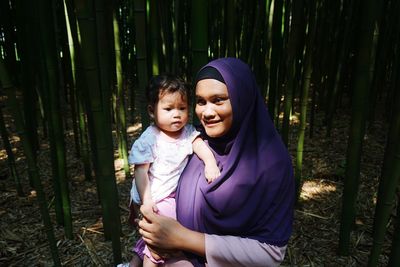
[[[21,143],[23,146],[24,154],[26,157],[27,165],[28,165],[28,172],[30,173],[33,182],[34,188],[36,190],[37,200],[39,203],[40,214],[42,216],[44,230],[47,235],[47,239],[49,241],[50,252],[53,258],[53,262],[55,266],[61,266],[60,257],[58,254],[56,238],[53,231],[53,225],[51,223],[49,210],[47,208],[47,201],[46,196],[43,191],[42,182],[39,176],[39,170],[36,165],[34,151],[32,148],[32,144],[30,143],[30,139],[27,136],[26,130],[24,128],[23,117],[20,112],[20,108],[15,96],[15,88],[11,83],[9,78],[8,72],[5,68],[4,61],[2,57],[0,57],[0,83],[4,89],[4,92],[7,95],[7,105],[10,107],[12,115],[14,117],[14,123],[16,132],[18,133]]]

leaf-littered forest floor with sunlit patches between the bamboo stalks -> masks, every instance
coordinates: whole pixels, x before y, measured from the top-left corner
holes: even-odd
[[[282,266],[366,266],[372,245],[374,205],[387,125],[383,115],[378,116],[364,138],[356,228],[351,236],[350,256],[338,256],[341,196],[350,125],[348,114],[349,110],[338,112],[329,138],[322,126],[323,115],[317,115],[314,137],[310,139],[306,136],[301,205],[295,210],[293,235]],[[289,150],[295,163],[296,119],[292,122]],[[131,140],[137,136],[138,130],[130,131]],[[6,154],[4,150],[0,151],[0,266],[52,266],[35,193],[27,182],[26,163],[19,139],[11,136],[11,140],[26,195],[16,195],[14,182],[8,177]],[[49,147],[46,140],[41,142],[38,162],[54,222]],[[84,180],[82,165],[75,157],[72,133],[66,136],[66,142],[74,239],[65,239],[63,229],[54,227],[62,264],[113,266],[111,242],[104,241],[95,182]],[[123,259],[128,261],[136,238],[135,229],[127,223],[131,180],[125,179],[120,161],[116,160],[115,167],[123,232],[121,246]],[[387,263],[390,235],[385,240],[380,266]]]

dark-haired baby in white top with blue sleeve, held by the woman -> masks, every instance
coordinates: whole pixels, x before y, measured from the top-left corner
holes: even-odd
[[[134,142],[129,163],[135,164],[131,199],[144,209],[176,219],[175,190],[193,152],[204,162],[209,183],[220,175],[213,153],[187,124],[188,89],[178,77],[153,77],[147,88],[148,112],[154,124]],[[143,266],[157,266],[163,260],[146,246]]]

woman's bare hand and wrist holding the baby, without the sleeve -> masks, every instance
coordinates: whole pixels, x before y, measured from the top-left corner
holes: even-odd
[[[161,250],[183,250],[205,257],[205,235],[182,226],[178,221],[141,208],[139,222],[143,240]]]

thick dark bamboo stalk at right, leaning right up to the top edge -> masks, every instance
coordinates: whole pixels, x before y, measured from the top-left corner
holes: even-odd
[[[361,31],[358,38],[353,80],[352,115],[346,155],[346,171],[339,233],[339,254],[348,255],[350,233],[355,221],[356,199],[360,177],[360,158],[365,133],[367,101],[370,88],[371,63],[376,3],[364,1],[361,5]]]

